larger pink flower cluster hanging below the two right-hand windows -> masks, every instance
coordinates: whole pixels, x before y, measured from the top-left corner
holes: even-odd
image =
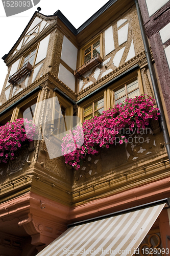
[[[63,138],[62,154],[65,156],[65,162],[79,169],[87,154],[98,153],[96,145],[108,148],[117,137],[120,144],[127,142],[123,134],[125,129],[131,132],[137,130],[137,133],[140,133],[141,129],[144,130],[149,125],[150,118],[158,119],[159,109],[155,108],[154,104],[155,100],[150,96],[127,98],[124,103],[116,104],[113,109],[103,111],[101,116],[86,120],[82,128],[77,126],[77,129]]]

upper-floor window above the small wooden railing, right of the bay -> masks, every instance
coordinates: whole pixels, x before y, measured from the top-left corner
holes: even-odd
[[[84,50],[84,63],[100,54],[100,38]]]

